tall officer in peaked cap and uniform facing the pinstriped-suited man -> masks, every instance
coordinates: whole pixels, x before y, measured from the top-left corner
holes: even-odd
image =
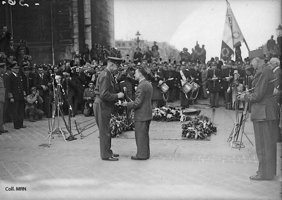
[[[99,74],[94,92],[94,116],[99,128],[100,156],[102,160],[117,161],[119,154],[113,154],[111,150],[111,111],[114,102],[124,97],[124,93],[116,94],[116,83],[112,73],[120,67],[123,59],[108,57],[107,67]]]

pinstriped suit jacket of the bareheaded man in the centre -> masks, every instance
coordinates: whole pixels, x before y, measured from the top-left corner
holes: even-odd
[[[135,100],[127,103],[128,109],[134,109],[135,121],[143,122],[152,119],[152,94],[152,85],[146,79],[141,80],[137,86]]]

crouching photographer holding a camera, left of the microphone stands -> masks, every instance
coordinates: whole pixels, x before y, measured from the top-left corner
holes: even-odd
[[[31,94],[26,97],[25,102],[25,114],[29,115],[29,121],[35,122],[35,116],[38,116],[39,119],[42,119],[44,112],[40,109],[37,109],[38,104],[43,103],[43,99],[39,95],[39,91],[36,87],[30,88]]]

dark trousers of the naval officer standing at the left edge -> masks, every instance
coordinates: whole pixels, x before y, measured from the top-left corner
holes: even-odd
[[[10,103],[10,109],[14,120],[14,128],[23,126],[24,100],[15,100]]]

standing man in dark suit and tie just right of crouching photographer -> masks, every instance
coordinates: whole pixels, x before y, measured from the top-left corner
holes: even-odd
[[[38,89],[39,95],[43,99],[43,104],[39,104],[38,109],[44,111],[45,115],[51,118],[52,108],[50,109],[50,106],[48,107],[49,104],[48,80],[47,80],[47,75],[43,73],[42,66],[38,67],[38,73],[35,74],[33,79],[33,86],[35,86]]]

